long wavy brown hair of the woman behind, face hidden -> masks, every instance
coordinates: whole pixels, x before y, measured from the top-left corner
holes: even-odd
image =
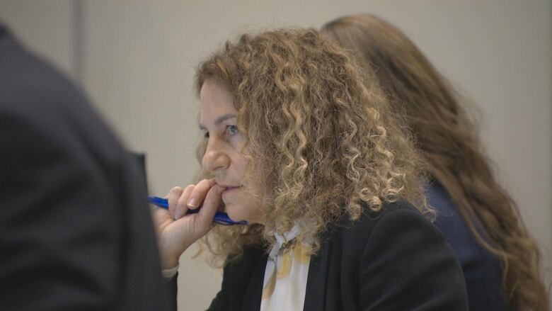
[[[452,196],[477,241],[502,264],[502,291],[513,310],[546,310],[540,253],[516,203],[493,175],[461,98],[395,26],[372,15],[345,16],[321,32],[350,50],[378,77],[403,115],[430,174]],[[490,237],[482,237],[475,220]]]

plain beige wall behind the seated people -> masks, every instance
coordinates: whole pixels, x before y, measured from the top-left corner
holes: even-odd
[[[396,24],[478,106],[496,174],[552,261],[552,4],[531,1],[0,0],[0,21],[69,75],[129,149],[147,157],[149,190],[186,186],[194,147],[197,64],[261,28],[319,28],[375,13]],[[221,271],[180,259],[179,309],[203,310]]]

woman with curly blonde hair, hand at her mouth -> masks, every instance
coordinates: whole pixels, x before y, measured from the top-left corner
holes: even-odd
[[[224,261],[209,310],[466,310],[420,157],[340,47],[314,30],[243,35],[200,65],[197,90],[205,179],[155,218],[166,269],[217,208],[248,222],[205,239]]]

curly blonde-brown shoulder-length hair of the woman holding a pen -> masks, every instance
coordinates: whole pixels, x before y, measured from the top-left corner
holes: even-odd
[[[203,242],[222,262],[248,244],[302,224],[298,239],[320,234],[364,207],[408,200],[425,215],[423,162],[376,81],[316,30],[272,30],[226,43],[197,69],[199,93],[217,79],[233,94],[246,137],[247,184],[260,185],[264,224],[217,226]],[[197,149],[199,158],[205,145]],[[205,172],[204,172],[205,173]],[[221,261],[216,261],[221,262]]]

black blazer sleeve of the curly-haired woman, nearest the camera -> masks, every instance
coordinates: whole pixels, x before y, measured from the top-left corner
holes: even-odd
[[[359,283],[362,310],[468,310],[452,249],[415,210],[381,217],[364,249]]]

